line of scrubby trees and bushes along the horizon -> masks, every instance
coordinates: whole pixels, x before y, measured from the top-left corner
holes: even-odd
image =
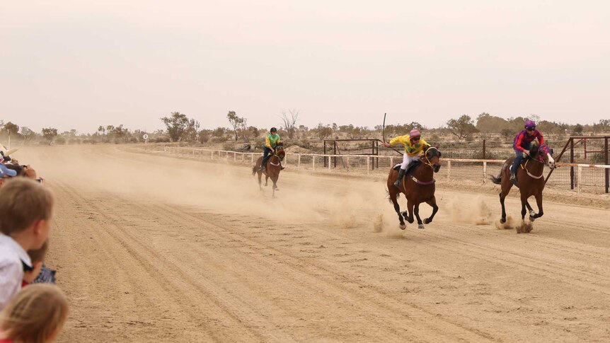
[[[307,141],[323,139],[356,139],[356,138],[380,138],[381,125],[374,128],[357,127],[354,124],[318,123],[316,127],[306,127],[299,124],[300,112],[298,109],[282,111],[279,120],[271,119],[270,122],[280,122],[277,125],[284,140],[297,142],[304,146]],[[59,132],[54,127],[43,128],[40,132],[34,132],[28,127],[20,127],[13,122],[0,120],[0,140],[7,144],[100,144],[100,143],[138,143],[142,142],[142,136],[149,134],[151,142],[198,142],[199,144],[229,143],[246,144],[251,141],[262,141],[263,135],[269,127],[258,128],[248,125],[248,119],[238,115],[235,111],[226,114],[227,127],[216,127],[214,129],[201,129],[200,122],[180,112],[171,112],[166,117],[161,117],[165,129],[155,132],[144,130],[130,130],[122,124],[100,125],[96,132],[79,133],[76,129]],[[454,140],[472,140],[475,136],[506,141],[512,140],[517,132],[523,129],[527,119],[538,123],[544,134],[555,135],[582,135],[582,134],[610,134],[610,119],[599,120],[594,124],[566,124],[549,120],[541,120],[537,115],[527,117],[499,117],[487,112],[480,113],[476,118],[469,115],[460,115],[448,120],[442,127],[425,127],[419,122],[408,122],[405,124],[387,124],[385,127],[386,139],[389,137],[408,134],[411,129],[425,130],[428,136],[438,138],[443,136],[453,137]]]

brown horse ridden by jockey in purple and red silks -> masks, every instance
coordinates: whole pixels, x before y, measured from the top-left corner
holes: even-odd
[[[529,220],[534,221],[536,218],[543,216],[544,211],[542,209],[542,190],[544,189],[544,178],[543,169],[544,165],[548,165],[548,168],[555,168],[555,160],[553,159],[553,150],[549,149],[546,144],[538,146],[534,141],[531,144],[529,150],[530,155],[523,160],[521,165],[517,167],[517,184],[519,192],[521,192],[521,219],[525,220],[525,214],[527,213],[526,208],[529,210]],[[502,204],[502,218],[500,223],[506,222],[506,210],[504,207],[504,199],[512,188],[512,182],[510,182],[510,165],[512,165],[514,157],[508,158],[502,165],[500,175],[495,178],[491,176],[491,181],[496,185],[502,186],[500,192],[500,204]],[[527,199],[534,196],[536,198],[536,204],[538,204],[538,212],[536,213]]]

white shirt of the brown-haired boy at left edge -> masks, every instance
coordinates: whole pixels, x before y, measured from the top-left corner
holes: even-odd
[[[0,233],[0,310],[21,290],[23,264],[32,267],[28,252],[13,238]]]

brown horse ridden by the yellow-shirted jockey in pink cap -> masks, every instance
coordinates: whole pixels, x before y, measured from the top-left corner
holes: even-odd
[[[420,157],[420,164],[413,167],[413,172],[405,174],[405,179],[401,183],[400,189],[395,187],[393,184],[398,178],[398,170],[391,168],[388,175],[388,193],[391,202],[394,204],[394,210],[398,214],[398,220],[401,221],[401,229],[405,229],[406,219],[409,223],[413,223],[413,214],[418,219],[418,228],[424,228],[424,223],[432,223],[435,214],[439,210],[437,206],[437,199],[435,198],[435,174],[438,173],[441,168],[439,158],[441,152],[435,147],[430,147],[425,151],[424,156]],[[401,213],[401,207],[398,205],[398,196],[404,193],[407,198],[407,209]],[[432,207],[432,215],[429,218],[420,219],[420,204],[425,202]]]

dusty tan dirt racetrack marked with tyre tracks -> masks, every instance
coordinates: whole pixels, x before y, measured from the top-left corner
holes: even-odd
[[[497,196],[439,188],[435,221],[400,231],[384,180],[287,169],[271,199],[244,166],[110,145],[14,156],[57,196],[60,342],[610,341],[606,209],[546,202],[517,234],[495,227]]]

